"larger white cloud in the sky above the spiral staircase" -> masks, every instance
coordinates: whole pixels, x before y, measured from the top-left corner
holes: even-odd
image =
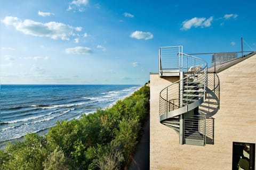
[[[210,27],[213,21],[213,16],[206,20],[206,18],[193,18],[182,22],[181,30],[189,30],[192,27]]]

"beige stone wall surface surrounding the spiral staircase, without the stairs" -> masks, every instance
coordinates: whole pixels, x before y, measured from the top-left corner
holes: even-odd
[[[179,78],[150,74],[150,169],[232,169],[233,141],[256,143],[256,55],[218,73],[220,109],[214,145],[179,145],[179,135],[159,123],[159,92]]]

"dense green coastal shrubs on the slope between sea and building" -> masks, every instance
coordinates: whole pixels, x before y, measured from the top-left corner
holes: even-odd
[[[57,122],[46,135],[29,133],[0,150],[0,169],[123,169],[149,114],[149,87],[107,109]]]

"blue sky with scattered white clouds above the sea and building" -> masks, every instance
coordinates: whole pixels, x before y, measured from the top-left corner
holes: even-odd
[[[1,84],[145,84],[158,49],[256,50],[256,1],[0,0]],[[209,64],[211,56],[202,57]]]

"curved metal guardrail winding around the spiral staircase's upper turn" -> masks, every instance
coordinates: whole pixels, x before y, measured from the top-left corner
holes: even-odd
[[[182,80],[172,83],[170,86],[167,86],[160,92],[159,115],[166,114],[167,116],[167,113],[180,107],[187,106],[188,104],[193,103],[193,101],[196,101],[198,98],[202,98],[205,95],[207,87],[207,63],[201,58],[197,58],[195,56],[190,56],[187,54],[183,54],[182,56],[183,65],[182,69],[180,70],[185,72],[186,77]],[[185,83],[193,81],[198,87],[201,88],[193,90],[187,84],[187,86],[184,86],[184,88],[180,89],[180,81]],[[181,92],[183,94],[183,99],[187,99],[186,101],[182,102],[182,105],[180,105]],[[191,97],[193,95],[197,95],[197,97]]]

